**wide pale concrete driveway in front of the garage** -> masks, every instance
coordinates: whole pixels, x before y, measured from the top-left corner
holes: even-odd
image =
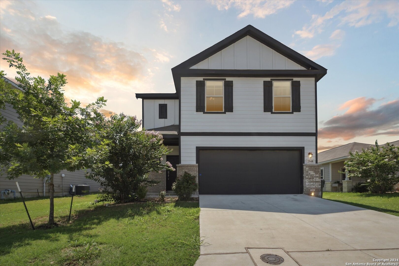
[[[393,215],[302,194],[200,195],[199,207],[209,245],[201,246],[196,266],[269,265],[262,254],[281,256],[285,266],[399,259]]]

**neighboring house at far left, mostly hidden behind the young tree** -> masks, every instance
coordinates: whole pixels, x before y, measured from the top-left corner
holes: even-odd
[[[8,83],[12,85],[12,87],[16,89],[20,89],[16,83],[13,81],[3,77]],[[16,111],[10,106],[6,105],[5,109],[0,110],[0,115],[4,116],[7,120],[12,120],[16,122],[19,126],[22,126],[22,122],[18,119],[18,114]],[[64,175],[64,176],[62,176]],[[22,191],[24,191],[24,197],[40,197],[44,195],[48,196],[49,187],[46,183],[46,179],[43,178],[35,178],[30,175],[22,175],[16,179],[9,180],[7,175],[4,174],[0,177],[0,191],[4,191],[6,189],[16,191],[16,196],[19,197],[18,189],[16,186],[16,181],[20,185]],[[69,195],[69,185],[89,185],[91,191],[98,191],[101,185],[96,181],[87,179],[85,177],[85,171],[79,170],[74,172],[69,171],[61,171],[61,173],[54,174],[54,189],[55,196],[63,196]],[[13,193],[2,193],[2,196],[5,195],[5,198],[12,198]]]

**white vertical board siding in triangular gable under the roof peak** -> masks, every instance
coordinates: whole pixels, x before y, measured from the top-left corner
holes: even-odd
[[[305,69],[294,61],[245,36],[190,67],[192,69]]]

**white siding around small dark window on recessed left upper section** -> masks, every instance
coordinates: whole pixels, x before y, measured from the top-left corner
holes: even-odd
[[[159,104],[168,104],[167,119],[159,119]],[[144,128],[159,128],[179,124],[179,100],[143,100]],[[194,106],[195,107],[195,106]]]

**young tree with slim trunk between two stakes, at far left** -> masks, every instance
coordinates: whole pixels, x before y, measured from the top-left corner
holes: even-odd
[[[31,77],[22,64],[20,53],[14,50],[3,53],[10,67],[15,67],[18,86],[13,89],[7,83],[0,83],[0,107],[10,104],[18,114],[23,126],[13,121],[5,122],[0,129],[0,165],[6,168],[9,179],[20,175],[49,177],[49,226],[54,222],[54,174],[63,169],[75,171],[83,167],[81,160],[85,150],[93,145],[96,122],[103,120],[97,111],[106,100],[100,97],[96,102],[81,107],[72,100],[65,103],[63,87],[65,75],[51,75],[47,83],[41,77]],[[4,72],[1,73],[4,75]],[[1,78],[0,78],[1,79]]]

